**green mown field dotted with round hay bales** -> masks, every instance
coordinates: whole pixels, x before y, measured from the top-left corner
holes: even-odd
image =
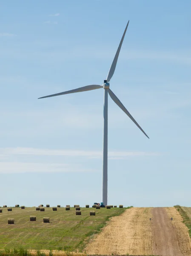
[[[96,215],[89,216],[90,210],[95,210]],[[110,216],[119,215],[124,210],[81,208],[82,215],[75,215],[74,207],[70,211],[64,207],[57,211],[45,207],[45,212],[36,211],[35,207],[12,208],[12,212],[3,208],[0,213],[0,249],[23,246],[35,250],[82,250],[89,236],[99,231]],[[29,221],[31,215],[36,215],[37,221]],[[49,217],[50,223],[43,223],[43,217]],[[8,218],[14,218],[15,224],[7,224]]]

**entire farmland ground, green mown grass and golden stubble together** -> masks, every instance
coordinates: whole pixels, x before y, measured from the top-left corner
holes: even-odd
[[[36,211],[35,207],[13,207],[12,212],[3,208],[3,213],[0,213],[0,249],[20,246],[25,249],[43,249],[47,256],[49,249],[64,250],[65,256],[69,255],[69,251],[88,255],[191,256],[191,208],[81,210],[82,215],[75,215],[74,207],[70,211],[62,207],[52,211],[52,208],[45,207],[45,212]],[[90,216],[90,210],[95,210],[96,215]],[[36,215],[37,221],[29,221],[30,215]],[[43,217],[49,217],[50,223],[43,223]],[[7,224],[8,218],[14,218],[15,224]],[[15,255],[26,256],[19,253]],[[64,252],[53,252],[53,255],[64,256]],[[80,256],[75,253],[72,255]]]

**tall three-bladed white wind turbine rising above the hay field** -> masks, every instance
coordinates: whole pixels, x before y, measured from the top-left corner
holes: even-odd
[[[129,23],[129,21],[128,21]],[[104,83],[102,85],[98,85],[98,84],[91,84],[91,85],[87,85],[87,86],[83,86],[74,90],[68,90],[66,92],[62,92],[62,93],[56,93],[56,94],[51,94],[48,96],[44,96],[44,97],[40,97],[38,99],[43,99],[43,98],[48,98],[48,97],[54,97],[54,96],[59,96],[59,95],[64,95],[64,94],[68,94],[68,93],[79,93],[79,92],[84,92],[84,91],[88,91],[88,90],[95,90],[95,89],[100,89],[103,88],[104,89],[104,105],[103,105],[103,185],[102,185],[102,202],[104,205],[107,205],[107,194],[108,194],[108,94],[111,97],[111,99],[125,112],[125,114],[128,115],[128,117],[137,125],[138,128],[140,128],[140,130],[143,132],[143,134],[145,134],[146,137],[147,134],[143,131],[143,129],[140,127],[140,125],[135,121],[135,119],[133,118],[133,116],[131,116],[131,114],[128,112],[128,110],[124,107],[124,105],[120,102],[120,100],[117,98],[117,96],[112,92],[112,90],[109,88],[109,81],[111,80],[114,71],[115,71],[115,67],[117,64],[117,59],[118,56],[120,54],[120,49],[121,46],[123,44],[123,39],[125,37],[125,33],[128,27],[128,23],[127,26],[125,27],[125,31],[123,33],[123,36],[121,38],[119,47],[117,49],[117,52],[115,54],[114,60],[111,64],[111,67],[109,69],[108,72],[108,76],[106,78],[106,80],[104,80]],[[148,137],[149,139],[149,137]]]

